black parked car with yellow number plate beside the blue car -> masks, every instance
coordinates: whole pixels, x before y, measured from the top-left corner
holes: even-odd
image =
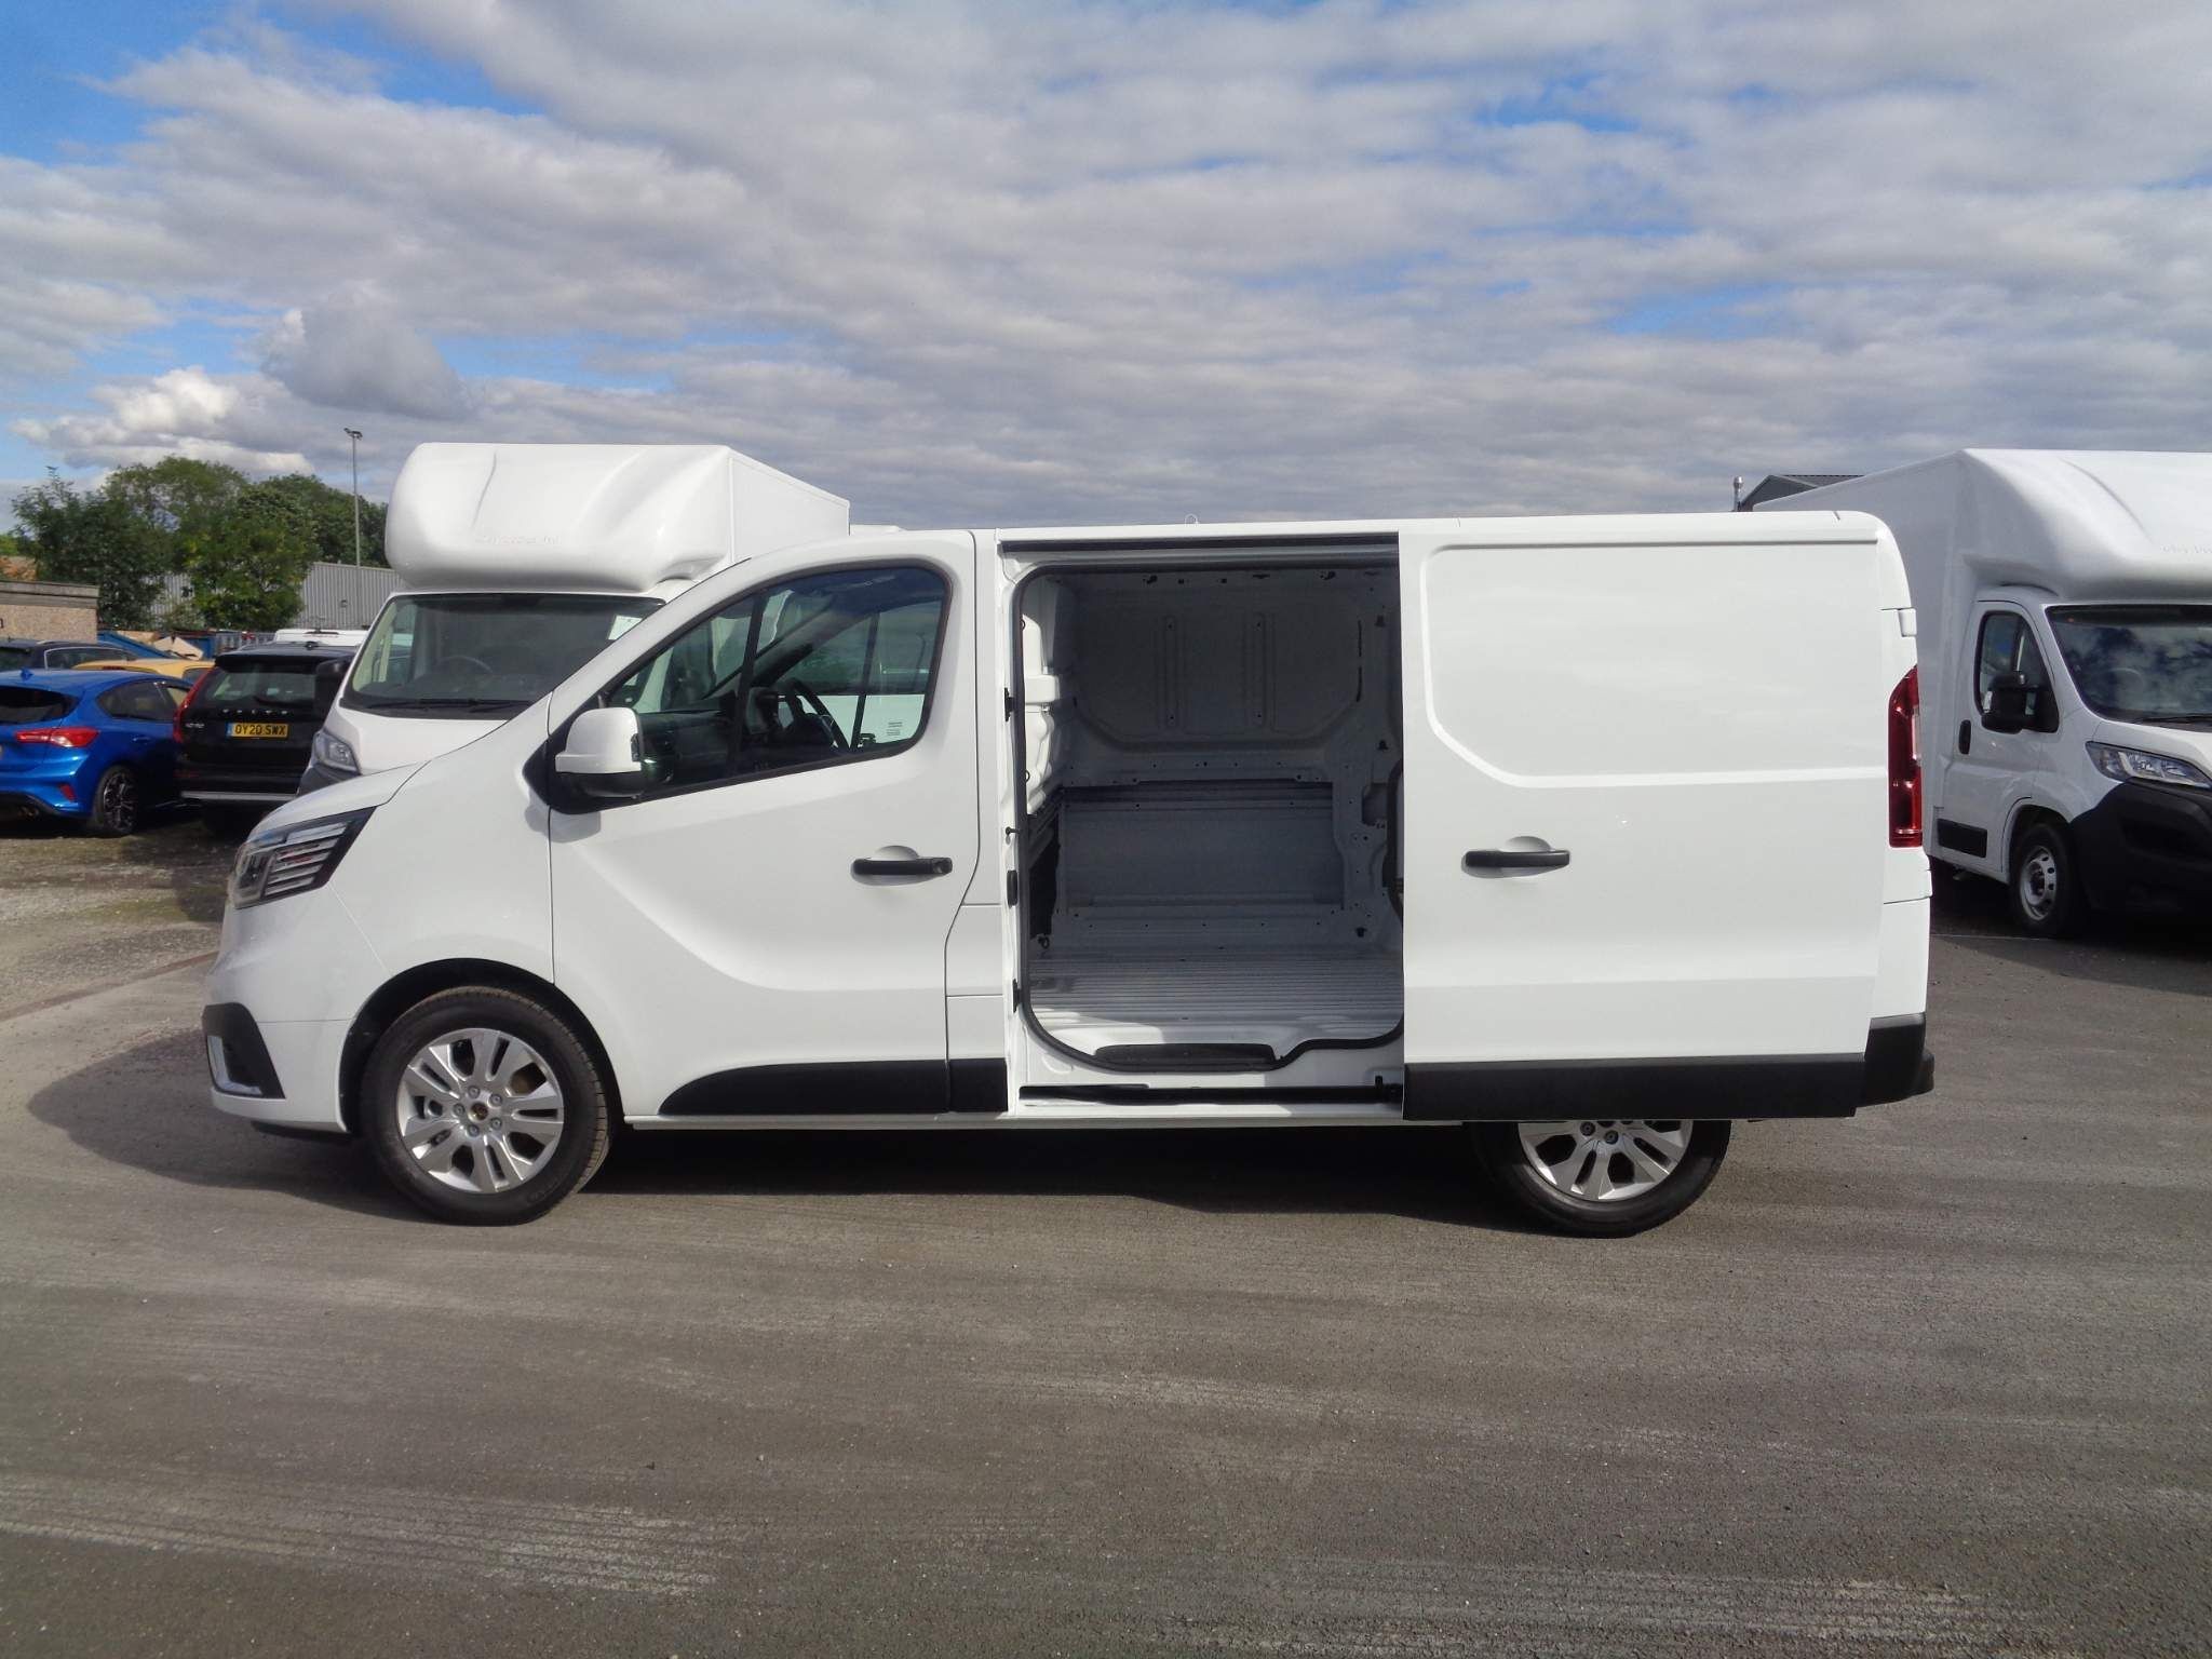
[[[352,659],[345,646],[316,644],[221,653],[177,712],[184,799],[230,825],[290,801]]]

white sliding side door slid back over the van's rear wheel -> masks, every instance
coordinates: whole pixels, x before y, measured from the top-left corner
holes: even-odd
[[[1469,520],[1400,566],[1407,1115],[1860,1104],[1907,604],[1880,526]]]

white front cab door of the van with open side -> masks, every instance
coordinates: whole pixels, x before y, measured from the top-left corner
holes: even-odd
[[[686,666],[684,697],[697,706],[641,717],[681,785],[553,814],[555,978],[580,1002],[628,1011],[606,1040],[619,1042],[633,1117],[947,1108],[945,942],[980,852],[973,540],[900,538],[849,557],[814,549],[803,568],[757,560],[745,591],[883,566],[945,582],[933,670],[911,661],[927,641],[905,639],[902,677],[872,710],[843,688],[816,695],[803,675],[781,697],[741,697],[712,684],[728,666],[717,639],[712,664]],[[874,635],[865,644],[887,653]],[[668,679],[661,659],[639,684]],[[841,748],[801,770],[699,779],[712,754],[701,723],[737,706],[785,728],[832,726]]]

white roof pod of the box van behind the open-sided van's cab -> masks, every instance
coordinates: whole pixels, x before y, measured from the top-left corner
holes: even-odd
[[[726,445],[418,445],[385,557],[409,588],[653,593],[845,535],[852,504]]]

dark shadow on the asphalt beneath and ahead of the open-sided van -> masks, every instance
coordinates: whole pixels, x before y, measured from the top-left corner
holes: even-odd
[[[197,1033],[100,1060],[31,1099],[31,1115],[113,1164],[190,1186],[288,1192],[418,1221],[352,1141],[254,1133],[206,1104]],[[1128,1197],[1208,1214],[1394,1214],[1524,1232],[1451,1128],[814,1130],[615,1137],[575,1199]]]

